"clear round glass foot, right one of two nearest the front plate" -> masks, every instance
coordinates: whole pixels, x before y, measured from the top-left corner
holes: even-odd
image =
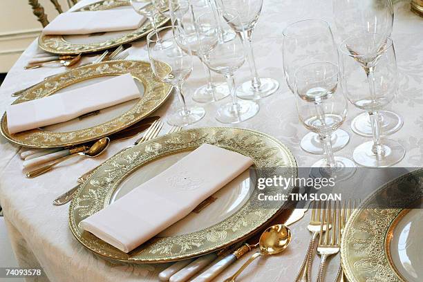
[[[222,123],[236,124],[248,120],[259,113],[259,104],[253,101],[238,101],[238,104],[228,103],[220,106],[216,120]]]

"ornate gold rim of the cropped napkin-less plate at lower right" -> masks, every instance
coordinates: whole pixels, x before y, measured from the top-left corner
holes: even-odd
[[[389,244],[393,229],[408,210],[400,208],[404,203],[397,202],[395,196],[389,197],[391,202],[388,202],[386,195],[391,195],[395,188],[407,180],[415,182],[415,176],[419,176],[419,182],[415,183],[415,194],[406,198],[408,203],[414,203],[421,195],[422,188],[419,187],[423,187],[423,169],[405,173],[382,185],[353,212],[341,242],[341,261],[348,281],[406,282],[393,265]],[[384,197],[383,204],[391,208],[378,208],[376,200],[380,205],[381,196]],[[363,238],[364,234],[366,238]]]

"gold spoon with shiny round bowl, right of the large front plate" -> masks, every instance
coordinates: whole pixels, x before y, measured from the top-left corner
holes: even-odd
[[[291,230],[285,225],[277,224],[265,229],[259,240],[260,251],[253,254],[234,275],[230,276],[224,282],[235,282],[236,277],[238,277],[254,259],[269,254],[279,254],[290,245],[290,242]]]

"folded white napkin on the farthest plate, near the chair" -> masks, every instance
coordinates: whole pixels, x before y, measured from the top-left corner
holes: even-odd
[[[44,28],[44,35],[86,35],[135,30],[146,20],[133,9],[64,12]]]

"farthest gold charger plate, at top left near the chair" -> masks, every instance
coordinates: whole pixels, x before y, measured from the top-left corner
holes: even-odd
[[[109,10],[128,5],[131,5],[129,0],[104,0],[91,3],[74,12]],[[159,15],[156,19],[156,26],[163,26],[167,21],[169,21],[169,18]],[[113,48],[140,39],[148,35],[151,30],[153,30],[153,26],[151,26],[150,21],[147,20],[136,30],[106,32],[105,36],[101,34],[95,37],[91,35],[73,35],[69,37],[64,37],[62,35],[40,35],[38,46],[47,52],[55,54],[89,53]]]

